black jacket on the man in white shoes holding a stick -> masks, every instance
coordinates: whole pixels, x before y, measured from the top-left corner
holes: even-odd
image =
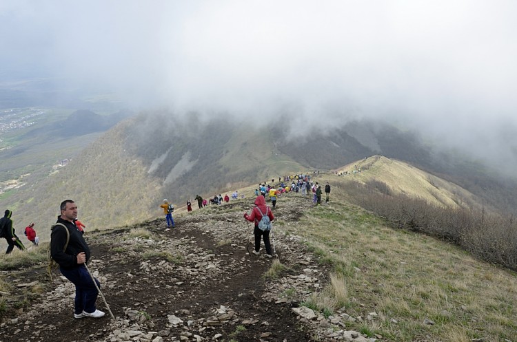
[[[63,220],[61,216],[57,217],[57,222],[66,226],[68,233],[70,233],[70,240],[68,246],[63,253],[63,247],[66,244],[66,232],[63,226],[57,225],[52,227],[50,233],[50,255],[59,266],[62,268],[75,268],[80,266],[77,264],[77,255],[84,252],[86,255],[86,262],[90,260],[90,247],[86,243],[81,231],[70,221]]]

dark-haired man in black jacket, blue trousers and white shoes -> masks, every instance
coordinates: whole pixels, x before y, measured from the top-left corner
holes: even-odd
[[[57,217],[50,233],[50,254],[59,264],[61,273],[75,285],[74,317],[103,317],[104,312],[95,308],[99,291],[85,267],[90,260],[90,247],[74,224],[77,219],[77,205],[72,200],[65,200],[60,209],[61,215]],[[68,230],[68,234],[65,230]],[[95,279],[95,282],[100,288],[99,281]]]

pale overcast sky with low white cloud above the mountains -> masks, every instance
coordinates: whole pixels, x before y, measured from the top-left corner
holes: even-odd
[[[514,0],[0,0],[0,75],[99,85],[140,108],[387,118],[507,158],[516,18]]]

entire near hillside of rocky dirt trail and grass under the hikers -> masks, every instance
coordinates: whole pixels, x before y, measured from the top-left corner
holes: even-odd
[[[0,341],[517,341],[514,272],[389,228],[347,202],[347,179],[315,179],[332,184],[328,205],[278,199],[276,260],[249,252],[252,187],[177,213],[172,230],[159,218],[87,231],[115,321],[100,297],[106,317],[74,319],[73,286],[48,280],[39,248],[2,256]]]

